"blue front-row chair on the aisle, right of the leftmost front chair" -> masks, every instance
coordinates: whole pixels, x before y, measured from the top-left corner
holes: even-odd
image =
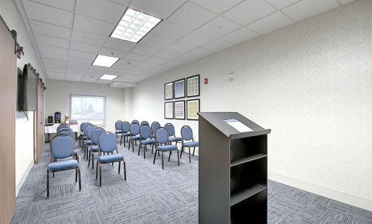
[[[113,151],[116,150],[116,154],[113,154]],[[120,163],[124,162],[124,179],[127,180],[127,172],[125,168],[124,156],[119,154],[117,149],[116,136],[113,132],[105,131],[98,137],[98,155],[101,152],[106,152],[107,155],[99,156],[97,160],[96,167],[96,179],[98,178],[98,163],[99,163],[99,187],[102,185],[102,169],[101,164],[119,162],[119,174],[120,174]],[[109,155],[109,153],[112,153]]]

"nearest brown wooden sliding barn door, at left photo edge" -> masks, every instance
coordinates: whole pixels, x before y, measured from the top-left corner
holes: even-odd
[[[15,40],[0,17],[0,223],[16,210],[16,54]]]

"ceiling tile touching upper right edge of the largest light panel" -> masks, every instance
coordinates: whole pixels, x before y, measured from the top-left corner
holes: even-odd
[[[169,21],[162,21],[157,28],[151,31],[151,34],[171,40],[178,40],[192,31],[192,29],[187,27],[183,27]]]

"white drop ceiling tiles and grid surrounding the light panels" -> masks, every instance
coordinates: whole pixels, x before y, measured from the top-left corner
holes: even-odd
[[[142,81],[351,1],[16,0],[48,78],[97,83]],[[127,7],[163,21],[138,44],[109,37]],[[97,54],[120,60],[91,65]]]

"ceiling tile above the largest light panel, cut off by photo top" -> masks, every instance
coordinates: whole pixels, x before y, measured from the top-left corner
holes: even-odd
[[[129,8],[166,19],[175,12],[185,0],[132,0]]]

